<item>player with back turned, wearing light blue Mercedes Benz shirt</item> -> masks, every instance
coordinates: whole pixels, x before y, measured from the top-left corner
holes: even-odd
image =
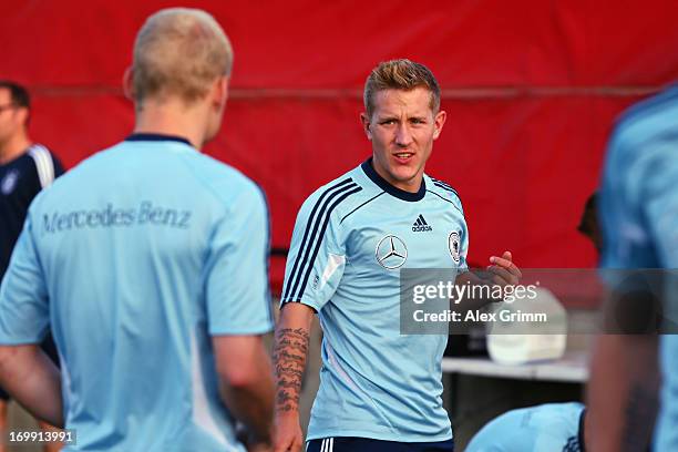
[[[75,431],[68,451],[244,451],[235,420],[269,448],[266,203],[198,151],[232,63],[208,13],[151,16],[125,76],[134,132],[31,205],[0,288],[0,381]],[[61,372],[35,346],[49,327]]]

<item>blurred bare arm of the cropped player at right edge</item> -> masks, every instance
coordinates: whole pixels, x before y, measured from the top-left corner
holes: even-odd
[[[647,450],[658,409],[656,335],[602,335],[590,359],[586,450]]]

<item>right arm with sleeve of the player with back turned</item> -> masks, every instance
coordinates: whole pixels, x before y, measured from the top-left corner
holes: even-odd
[[[274,327],[267,207],[254,184],[228,196],[206,256],[208,333],[222,399],[244,424],[246,445],[270,448],[273,369],[261,338]]]

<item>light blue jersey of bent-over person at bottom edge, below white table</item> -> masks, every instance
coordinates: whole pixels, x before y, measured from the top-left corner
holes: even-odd
[[[548,403],[511,410],[473,436],[466,452],[581,452],[584,405]]]

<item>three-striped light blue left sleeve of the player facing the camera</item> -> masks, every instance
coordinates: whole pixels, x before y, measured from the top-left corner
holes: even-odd
[[[327,194],[328,192],[325,192]],[[331,192],[316,193],[301,206],[287,256],[281,306],[302,302],[316,311],[330,300],[343,275],[346,251]]]

